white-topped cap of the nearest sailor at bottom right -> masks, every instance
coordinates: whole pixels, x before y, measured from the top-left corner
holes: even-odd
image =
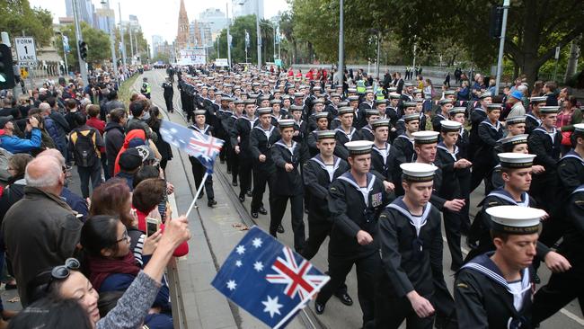
[[[497,206],[488,208],[491,229],[511,235],[531,235],[539,232],[545,211],[529,207]]]

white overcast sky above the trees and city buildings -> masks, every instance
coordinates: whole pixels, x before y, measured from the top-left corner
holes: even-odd
[[[96,8],[102,7],[100,0],[92,0]],[[29,0],[31,6],[38,6],[49,9],[54,15],[54,22],[58,22],[58,17],[66,15],[65,0]],[[142,31],[146,34],[148,43],[152,42],[153,35],[161,35],[165,40],[172,42],[176,37],[177,21],[181,0],[119,0],[121,4],[122,20],[128,20],[129,14],[137,15]],[[189,21],[199,18],[208,7],[226,10],[226,3],[229,3],[229,15],[231,16],[231,1],[205,1],[205,0],[185,0],[184,4],[189,15]],[[116,12],[116,22],[119,21],[118,1],[110,0],[111,6]],[[288,8],[286,0],[264,0],[264,13],[266,18],[276,15],[279,11]]]

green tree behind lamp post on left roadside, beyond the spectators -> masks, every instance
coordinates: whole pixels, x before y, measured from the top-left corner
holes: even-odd
[[[110,36],[104,31],[93,29],[85,22],[81,22],[81,34],[83,40],[87,43],[87,63],[99,64],[106,59],[111,59]],[[75,25],[69,24],[61,29],[61,33],[66,35],[69,40],[70,51],[67,53],[67,65],[70,70],[74,67],[79,69],[79,61],[77,58],[77,40],[75,38]],[[59,35],[57,44],[63,44],[63,40]],[[57,47],[58,53],[63,57],[63,48]]]

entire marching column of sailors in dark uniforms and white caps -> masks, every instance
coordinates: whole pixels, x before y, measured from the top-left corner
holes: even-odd
[[[584,124],[561,155],[566,137],[548,96],[501,122],[490,93],[471,106],[448,90],[423,111],[432,101],[409,83],[401,93],[357,93],[293,76],[213,72],[182,75],[179,89],[191,128],[226,140],[220,158],[239,200],[252,197],[252,218],[270,213],[272,236],[290,226],[306,259],[327,253],[331,280],[314,300],[317,314],[333,295],[353,304],[344,283],[353,265],[364,327],[530,327],[584,296]],[[191,163],[199,184],[203,169]],[[481,182],[471,224],[470,195]],[[212,207],[210,177],[205,187]],[[532,302],[539,262],[553,275]]]

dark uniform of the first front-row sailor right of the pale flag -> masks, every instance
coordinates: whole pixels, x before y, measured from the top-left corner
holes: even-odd
[[[241,116],[235,120],[231,129],[231,147],[239,146],[239,198],[245,198],[245,193],[250,190],[252,184],[252,152],[250,150],[250,133],[258,123],[258,119],[250,120],[247,116]],[[237,138],[240,140],[238,141]]]

